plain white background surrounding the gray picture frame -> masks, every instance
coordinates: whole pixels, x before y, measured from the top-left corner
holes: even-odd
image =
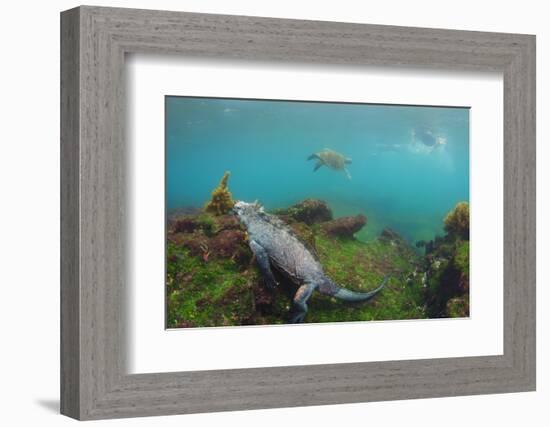
[[[97,5],[410,25],[537,35],[538,391],[508,395],[275,409],[109,421],[110,425],[546,426],[550,335],[548,259],[550,27],[536,0],[96,1]],[[74,1],[5,2],[0,64],[0,422],[63,426],[59,405],[59,12]],[[546,18],[545,18],[546,16]],[[545,197],[546,196],[546,197]],[[546,238],[546,241],[543,241]],[[546,304],[545,304],[546,303]],[[545,363],[546,362],[546,363]]]

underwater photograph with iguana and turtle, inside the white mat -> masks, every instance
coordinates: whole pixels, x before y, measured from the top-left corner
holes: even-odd
[[[166,96],[166,328],[469,317],[469,117]]]

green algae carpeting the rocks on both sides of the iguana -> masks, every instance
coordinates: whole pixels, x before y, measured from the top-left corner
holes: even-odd
[[[205,214],[201,222],[204,222]],[[209,223],[209,221],[206,221]],[[374,299],[346,303],[316,292],[308,306],[307,323],[425,318],[420,277],[410,276],[420,259],[407,245],[379,240],[329,237],[317,224],[294,223],[293,230],[319,258],[327,275],[355,291],[369,291],[388,275]],[[219,225],[201,226],[215,236]],[[202,235],[202,234],[201,234]],[[167,243],[167,327],[206,327],[288,323],[296,285],[279,277],[280,286],[266,289],[252,255],[244,264],[231,257],[192,254],[184,245]]]

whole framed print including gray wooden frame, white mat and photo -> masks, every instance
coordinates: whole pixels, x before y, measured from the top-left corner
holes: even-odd
[[[87,6],[61,36],[62,413],[534,390],[534,36]]]

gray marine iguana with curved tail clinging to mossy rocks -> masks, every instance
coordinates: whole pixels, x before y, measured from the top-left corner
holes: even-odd
[[[273,289],[278,283],[271,266],[299,285],[293,298],[291,322],[301,323],[307,313],[307,302],[313,291],[344,301],[366,301],[376,295],[388,281],[370,292],[344,289],[327,277],[313,254],[279,218],[266,213],[258,203],[238,201],[233,207],[239,221],[248,232],[249,246],[256,257],[266,285]]]

